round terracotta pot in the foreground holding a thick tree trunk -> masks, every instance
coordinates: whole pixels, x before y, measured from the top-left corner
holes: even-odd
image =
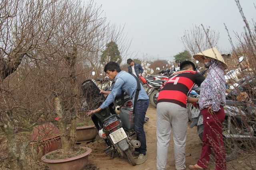
[[[83,148],[86,149],[87,151],[83,154],[80,154],[78,156],[74,156],[71,158],[66,158],[66,159],[47,159],[46,156],[50,154],[54,154],[58,150],[54,150],[52,152],[49,152],[45,154],[42,157],[42,162],[46,163],[48,168],[50,170],[82,170],[86,166],[88,162],[88,156],[92,152],[92,149],[88,147],[78,147],[78,148]]]

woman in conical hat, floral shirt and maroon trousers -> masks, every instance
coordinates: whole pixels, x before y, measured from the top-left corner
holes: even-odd
[[[215,170],[226,170],[226,152],[222,137],[222,123],[225,119],[223,106],[226,104],[224,69],[226,65],[222,55],[215,47],[198,53],[194,59],[209,68],[208,75],[201,84],[198,104],[203,115],[204,132],[202,152],[197,164],[190,165],[191,170],[206,169],[211,149],[216,160]]]

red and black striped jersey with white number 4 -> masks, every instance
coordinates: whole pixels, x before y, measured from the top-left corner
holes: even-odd
[[[200,86],[203,81],[197,83],[196,79],[196,72],[192,70],[181,70],[172,74],[160,91],[157,102],[171,102],[187,108],[187,96],[190,90],[195,84]]]

